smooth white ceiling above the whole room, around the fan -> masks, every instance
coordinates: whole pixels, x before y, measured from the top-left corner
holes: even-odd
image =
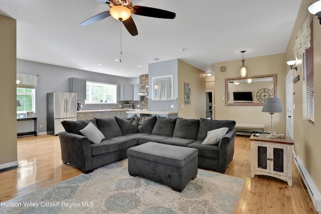
[[[0,0],[0,14],[17,20],[18,59],[130,78],[147,74],[150,63],[172,59],[214,73],[214,63],[241,60],[242,50],[245,60],[284,53],[300,4],[301,0],[133,0],[132,5],[176,13],[174,20],[132,14],[138,30],[134,37],[112,17],[80,26],[109,11],[92,0]],[[121,63],[114,61],[120,57],[120,29]]]

